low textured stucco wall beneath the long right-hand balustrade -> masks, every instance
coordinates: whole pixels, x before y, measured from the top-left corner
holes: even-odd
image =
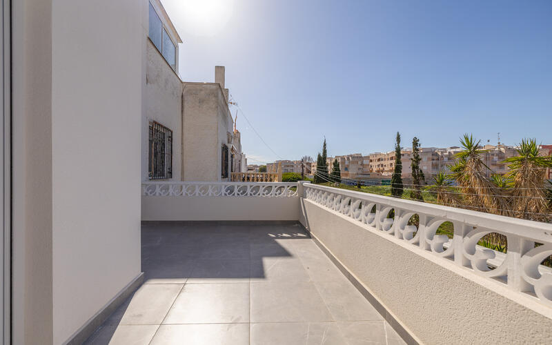
[[[519,294],[497,293],[486,287],[493,282],[311,200],[301,204],[302,224],[422,343],[550,343],[552,319],[515,302]]]

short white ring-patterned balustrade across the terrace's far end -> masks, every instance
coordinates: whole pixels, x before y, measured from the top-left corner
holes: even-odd
[[[146,182],[146,197],[297,197],[297,183]]]

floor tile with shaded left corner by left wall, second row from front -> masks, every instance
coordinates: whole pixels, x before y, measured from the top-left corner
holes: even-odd
[[[107,324],[161,324],[181,288],[181,284],[144,284]]]

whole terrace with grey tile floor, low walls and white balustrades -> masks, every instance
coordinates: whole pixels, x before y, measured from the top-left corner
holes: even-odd
[[[88,344],[552,337],[551,224],[304,182],[152,181],[142,219],[144,284]]]

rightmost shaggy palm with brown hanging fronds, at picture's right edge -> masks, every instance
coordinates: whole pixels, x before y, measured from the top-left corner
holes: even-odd
[[[509,163],[509,186],[516,217],[542,220],[549,209],[544,174],[552,168],[552,156],[541,156],[535,139],[522,139],[517,148],[519,156],[505,159]]]

